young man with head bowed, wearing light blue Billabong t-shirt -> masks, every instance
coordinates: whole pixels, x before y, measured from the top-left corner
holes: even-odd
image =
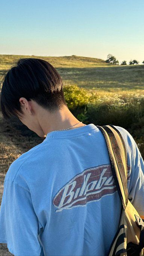
[[[45,137],[6,173],[0,242],[15,256],[106,255],[121,202],[101,131],[73,116],[61,76],[42,59],[20,59],[8,71],[0,104],[4,117]],[[144,161],[133,137],[115,127],[126,143],[129,200],[143,216]]]

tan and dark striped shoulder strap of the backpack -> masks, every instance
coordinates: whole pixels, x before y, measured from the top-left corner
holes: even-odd
[[[123,137],[113,125],[103,125],[97,127],[105,137],[108,147],[112,174],[117,186],[118,194],[125,209],[128,201],[127,189],[127,154]]]

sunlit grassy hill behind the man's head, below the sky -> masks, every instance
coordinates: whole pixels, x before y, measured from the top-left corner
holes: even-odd
[[[0,55],[0,80],[19,58],[41,58],[50,62],[60,73],[64,85],[78,85],[100,94],[144,94],[144,65],[115,66],[102,59],[83,56]]]

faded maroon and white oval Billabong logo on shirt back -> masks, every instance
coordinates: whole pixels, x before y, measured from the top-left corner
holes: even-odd
[[[128,177],[129,178],[129,177]],[[58,208],[71,209],[84,206],[91,201],[100,200],[105,195],[117,191],[111,171],[111,165],[88,168],[77,174],[53,198],[53,205]]]

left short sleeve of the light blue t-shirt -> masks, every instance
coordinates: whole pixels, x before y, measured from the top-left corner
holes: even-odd
[[[0,208],[0,243],[15,256],[39,256],[38,218],[28,190],[6,180]]]

